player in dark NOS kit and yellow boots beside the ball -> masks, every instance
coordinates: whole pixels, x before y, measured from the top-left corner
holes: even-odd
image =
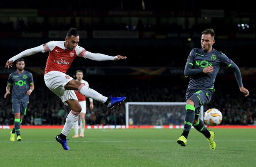
[[[244,88],[240,70],[236,64],[222,52],[213,49],[215,43],[214,30],[205,29],[201,33],[201,49],[192,49],[186,62],[184,74],[190,76],[189,86],[186,91],[186,114],[184,117],[184,130],[178,144],[186,146],[191,126],[201,132],[209,141],[210,149],[215,150],[214,132],[207,130],[203,120],[199,119],[200,107],[209,103],[214,90],[214,81],[219,72],[220,65],[234,72],[239,89],[244,96],[249,96],[249,91]]]

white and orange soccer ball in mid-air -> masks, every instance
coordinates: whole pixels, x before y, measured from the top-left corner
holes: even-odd
[[[211,108],[204,113],[204,123],[209,126],[219,125],[222,121],[222,114],[216,108]]]

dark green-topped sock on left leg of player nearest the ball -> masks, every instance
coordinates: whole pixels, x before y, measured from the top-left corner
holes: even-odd
[[[184,135],[185,138],[187,138],[189,135],[189,131],[191,129],[192,124],[194,123],[194,119],[195,119],[195,107],[190,104],[186,104],[186,114],[184,117],[184,131],[181,134],[181,135]]]

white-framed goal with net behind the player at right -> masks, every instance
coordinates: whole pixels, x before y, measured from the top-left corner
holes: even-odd
[[[129,125],[183,125],[185,102],[127,102],[126,127]],[[203,119],[204,106],[199,118]]]

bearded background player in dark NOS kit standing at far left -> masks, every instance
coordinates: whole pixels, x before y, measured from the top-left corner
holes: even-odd
[[[16,66],[17,71],[9,75],[4,96],[6,98],[10,94],[10,88],[12,86],[12,113],[14,114],[14,127],[10,133],[10,140],[12,142],[15,141],[15,132],[17,134],[17,141],[21,141],[20,124],[22,123],[23,116],[27,112],[29,96],[34,90],[33,76],[30,72],[24,70],[24,59],[18,59]]]

